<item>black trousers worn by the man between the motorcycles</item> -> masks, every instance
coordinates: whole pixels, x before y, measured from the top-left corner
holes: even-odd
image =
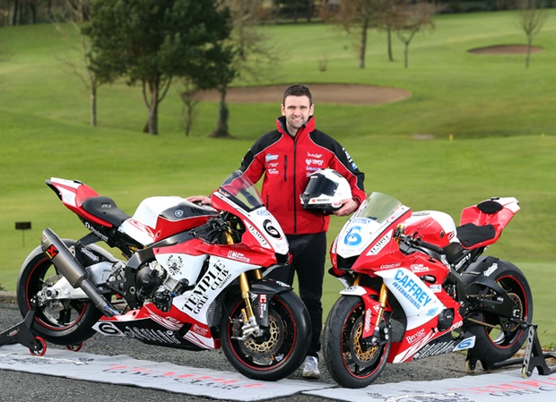
[[[311,319],[312,337],[307,355],[317,356],[323,326],[323,280],[325,278],[326,232],[313,235],[287,235],[293,261],[288,267],[274,269],[268,277],[288,285],[298,276],[299,295]]]

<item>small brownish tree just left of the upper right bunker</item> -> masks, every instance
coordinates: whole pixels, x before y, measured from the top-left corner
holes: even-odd
[[[438,8],[434,4],[418,2],[398,8],[398,20],[395,27],[397,37],[404,43],[404,68],[409,66],[409,45],[422,28],[434,29],[432,15]]]

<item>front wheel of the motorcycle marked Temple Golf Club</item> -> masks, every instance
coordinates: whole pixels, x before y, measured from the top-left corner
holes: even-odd
[[[298,295],[282,292],[268,303],[268,328],[263,337],[233,338],[234,321],[243,321],[245,302],[236,295],[222,314],[222,351],[238,372],[257,381],[278,381],[295,372],[307,353],[311,329],[307,309]],[[237,325],[237,324],[236,324]]]

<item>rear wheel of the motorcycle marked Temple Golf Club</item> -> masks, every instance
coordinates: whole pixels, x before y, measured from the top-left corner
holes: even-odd
[[[65,240],[65,244],[69,246],[73,242]],[[16,297],[22,317],[30,312],[31,300],[42,287],[62,278],[44,252],[33,253],[23,263],[17,280]],[[56,345],[76,345],[96,333],[92,326],[101,315],[89,299],[48,300],[35,307],[32,331]]]

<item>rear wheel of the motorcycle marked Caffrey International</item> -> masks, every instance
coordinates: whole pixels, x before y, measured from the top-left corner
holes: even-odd
[[[531,323],[533,321],[533,295],[525,275],[514,264],[498,261],[499,268],[495,271],[494,280],[504,288],[508,295],[520,307],[519,318]],[[508,360],[523,346],[527,338],[527,329],[516,325],[514,329],[502,330],[500,317],[495,313],[478,312],[470,318],[484,322],[486,325],[468,321],[467,329],[473,333],[475,346],[472,353],[488,370],[493,364]]]

